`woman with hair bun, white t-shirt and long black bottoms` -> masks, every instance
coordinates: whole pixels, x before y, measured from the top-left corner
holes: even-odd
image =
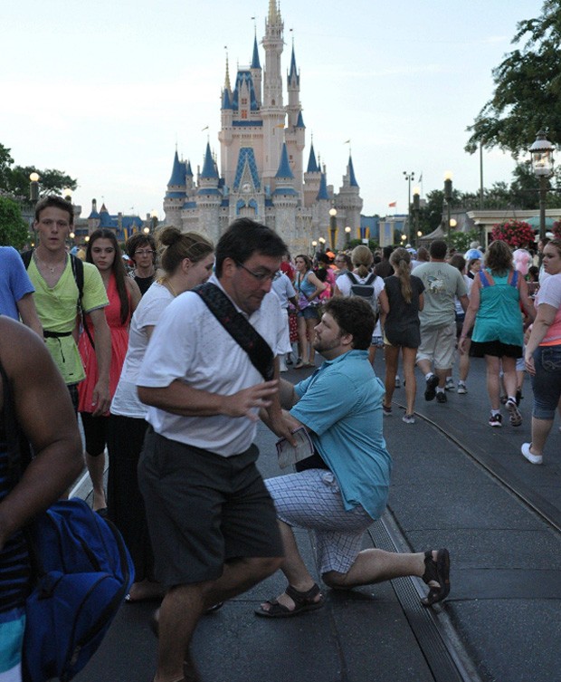
[[[109,428],[109,518],[122,533],[135,565],[136,581],[127,601],[163,596],[154,580],[154,557],[144,501],[138,489],[138,457],[147,429],[147,406],[137,395],[137,377],[154,327],[176,296],[206,282],[214,265],[214,246],[196,232],[167,226],[157,234],[160,269],[130,323],[127,357],[111,403]]]

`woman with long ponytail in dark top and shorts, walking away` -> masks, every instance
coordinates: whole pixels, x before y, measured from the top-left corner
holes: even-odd
[[[405,400],[407,408],[403,420],[414,424],[414,405],[417,384],[415,380],[415,359],[421,343],[419,312],[424,305],[424,284],[419,277],[411,274],[411,254],[402,247],[396,248],[390,256],[394,274],[384,280],[385,288],[380,302],[385,303],[389,312],[385,317],[385,399],[384,414],[392,411],[395,389],[395,373],[402,353],[405,378]]]

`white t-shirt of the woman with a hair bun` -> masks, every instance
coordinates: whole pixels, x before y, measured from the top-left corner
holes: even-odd
[[[137,379],[148,345],[147,327],[156,325],[162,312],[173,300],[173,294],[157,282],[153,283],[140,299],[138,308],[130,321],[127,355],[111,402],[111,414],[120,417],[146,418],[147,405],[138,399]]]

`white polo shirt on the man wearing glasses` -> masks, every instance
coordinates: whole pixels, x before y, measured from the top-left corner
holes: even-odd
[[[214,276],[209,281],[220,286]],[[261,308],[248,319],[275,356],[284,352],[280,343],[286,319],[275,293],[268,293]],[[165,388],[176,379],[195,389],[220,395],[232,395],[263,381],[248,354],[194,292],[178,296],[162,314],[142,362],[137,385]],[[246,417],[182,417],[159,408],[148,408],[147,421],[166,438],[221,456],[247,450],[256,430],[256,423]]]

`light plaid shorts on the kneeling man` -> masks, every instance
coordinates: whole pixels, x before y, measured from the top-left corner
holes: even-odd
[[[347,573],[373,519],[360,505],[345,509],[335,476],[326,469],[307,469],[268,478],[265,485],[281,521],[313,531],[319,574]]]

